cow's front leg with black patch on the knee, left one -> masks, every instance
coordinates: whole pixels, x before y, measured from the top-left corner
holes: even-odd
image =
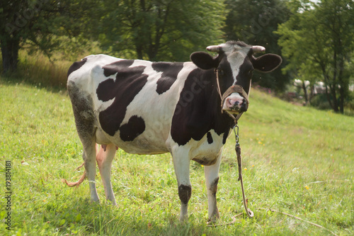
[[[178,196],[181,200],[180,221],[184,221],[188,218],[188,201],[192,195],[192,186],[190,185],[189,179],[189,164],[190,159],[188,155],[173,155],[173,166],[178,183]]]

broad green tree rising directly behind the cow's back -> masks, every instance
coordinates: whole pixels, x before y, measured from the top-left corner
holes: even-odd
[[[103,49],[147,60],[188,60],[219,43],[222,0],[101,1],[90,34]],[[97,21],[98,20],[98,21]]]

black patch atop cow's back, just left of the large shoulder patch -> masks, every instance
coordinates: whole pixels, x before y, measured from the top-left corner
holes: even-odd
[[[164,94],[176,81],[178,73],[183,69],[183,63],[154,62],[152,63],[152,69],[156,72],[163,72],[156,83],[156,92],[157,94]]]

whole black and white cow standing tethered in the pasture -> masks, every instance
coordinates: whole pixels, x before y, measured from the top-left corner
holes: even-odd
[[[218,54],[193,52],[192,62],[90,55],[72,64],[67,89],[84,147],[92,201],[99,201],[97,161],[105,197],[116,205],[110,170],[118,147],[136,154],[171,152],[181,200],[180,220],[187,218],[191,196],[190,160],[205,166],[209,220],[219,218],[217,183],[222,147],[234,126],[230,115],[247,110],[245,96],[253,69],[271,72],[282,60],[273,54],[254,57],[265,48],[242,42],[229,41],[207,50]],[[232,92],[221,101],[220,94],[233,85],[241,86],[245,93]],[[84,176],[71,186],[83,180]]]

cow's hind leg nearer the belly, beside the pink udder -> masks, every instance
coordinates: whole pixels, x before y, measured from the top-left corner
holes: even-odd
[[[110,201],[113,205],[117,205],[115,202],[115,196],[112,189],[112,184],[110,182],[110,169],[112,167],[113,158],[115,156],[115,151],[117,150],[115,145],[104,145],[99,147],[97,145],[98,152],[96,156],[96,161],[98,164],[98,169],[100,170],[102,183],[105,188],[105,198]]]

